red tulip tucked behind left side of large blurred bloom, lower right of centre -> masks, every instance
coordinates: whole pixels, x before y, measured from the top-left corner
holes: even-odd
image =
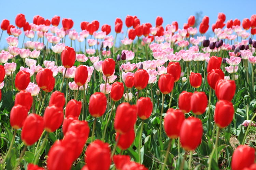
[[[180,136],[181,125],[185,120],[185,115],[180,109],[168,109],[163,122],[165,133],[170,139],[175,139]]]

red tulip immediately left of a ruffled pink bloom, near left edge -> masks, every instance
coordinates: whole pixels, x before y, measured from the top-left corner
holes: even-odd
[[[25,90],[30,82],[30,74],[20,70],[15,77],[15,87],[18,91]]]

